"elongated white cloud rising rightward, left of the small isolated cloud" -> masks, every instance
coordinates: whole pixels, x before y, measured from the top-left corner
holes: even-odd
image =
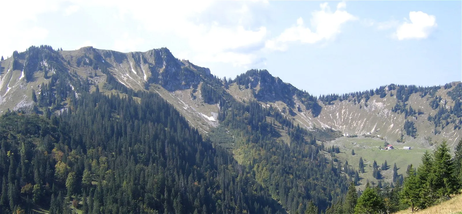
[[[266,42],[266,48],[273,50],[286,50],[287,42],[301,42],[313,44],[323,40],[332,40],[339,34],[342,24],[348,21],[357,20],[355,16],[346,12],[345,2],[337,5],[335,12],[330,11],[328,3],[320,5],[321,10],[312,12],[310,19],[311,30],[304,26],[303,18],[297,19],[297,24],[284,30],[280,36]]]

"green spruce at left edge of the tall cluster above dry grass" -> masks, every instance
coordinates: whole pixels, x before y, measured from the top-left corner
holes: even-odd
[[[400,197],[404,203],[411,206],[412,212],[414,212],[414,206],[418,204],[420,200],[420,185],[421,182],[411,164],[409,173],[407,173],[407,178],[404,179]]]

